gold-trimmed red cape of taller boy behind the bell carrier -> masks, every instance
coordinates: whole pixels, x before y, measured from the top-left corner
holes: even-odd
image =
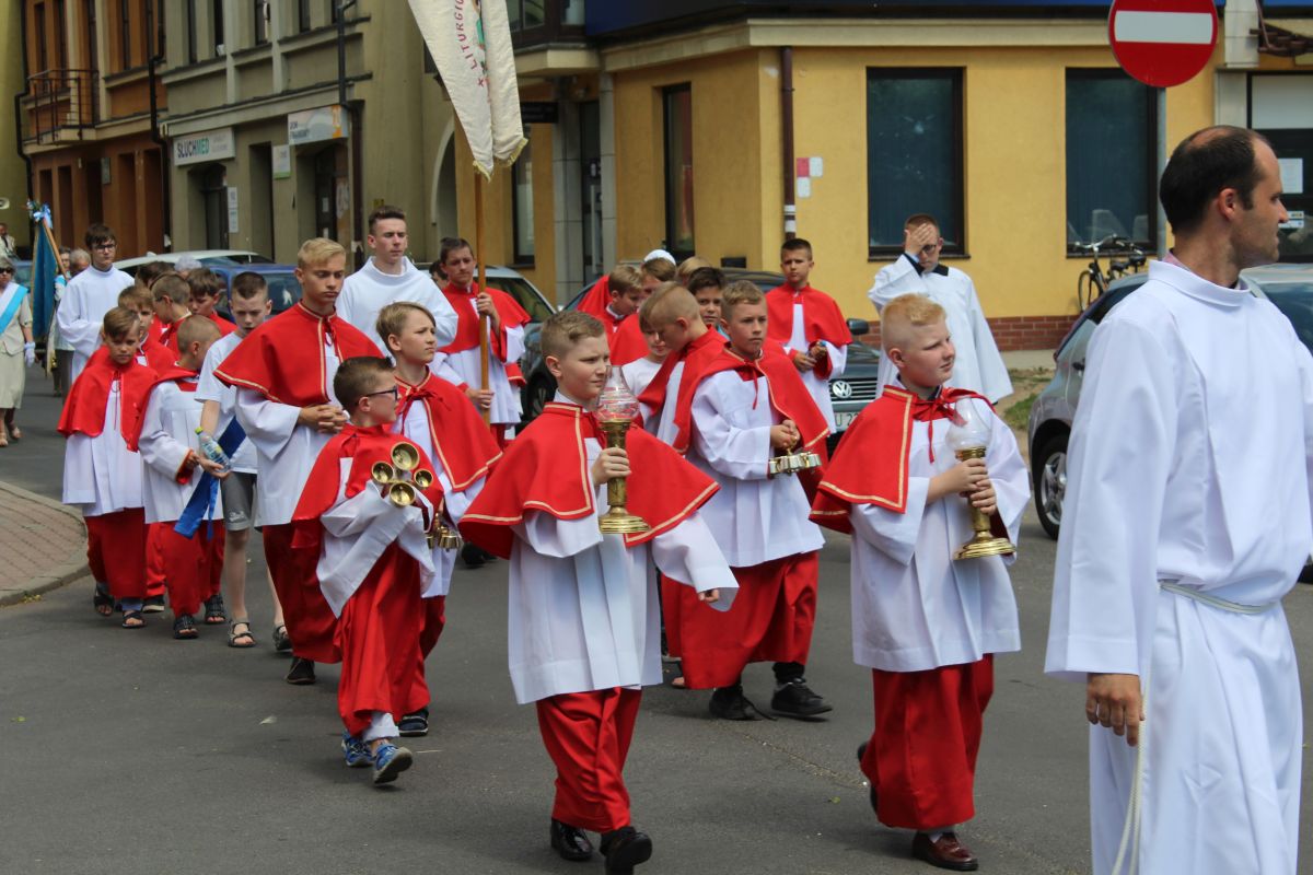
[[[381,357],[374,341],[337,315],[319,316],[297,302],[247,335],[214,369],[226,386],[249,388],[291,407],[327,404],[324,337],[332,337],[337,361]]]

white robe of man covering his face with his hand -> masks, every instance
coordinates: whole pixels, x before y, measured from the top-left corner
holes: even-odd
[[[949,386],[979,392],[991,401],[1012,394],[1012,379],[994,342],[994,333],[985,320],[976,285],[957,268],[937,265],[930,273],[919,273],[918,265],[906,254],[898,256],[876,274],[876,283],[867,293],[876,312],[899,295],[926,295],[944,308],[948,333],[957,349],[953,376]],[[880,357],[880,386],[885,387],[898,374],[888,356]]]

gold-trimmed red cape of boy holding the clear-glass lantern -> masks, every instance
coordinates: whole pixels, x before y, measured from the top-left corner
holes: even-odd
[[[945,387],[940,392],[945,404],[964,397],[989,403],[985,396],[968,390]],[[852,534],[848,512],[855,504],[907,512],[907,462],[916,400],[905,388],[886,386],[884,394],[857,415],[817,488],[811,522]]]

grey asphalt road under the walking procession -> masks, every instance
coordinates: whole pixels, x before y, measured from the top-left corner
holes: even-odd
[[[0,478],[58,497],[56,403],[38,390]],[[1083,691],[1041,673],[1054,544],[1032,516],[1020,546],[1024,649],[997,661],[978,815],[960,834],[983,871],[1087,872]],[[261,577],[255,551],[249,580]],[[282,682],[261,585],[252,651],[227,648],[222,627],[173,641],[164,615],[121,630],[92,611],[89,581],[0,610],[0,874],[600,871],[548,849],[553,769],[511,693],[504,582],[506,563],[457,572],[428,661],[432,732],[386,788],[341,765],[336,666],[312,687]],[[1309,677],[1313,586],[1287,611]],[[852,664],[848,615],[847,542],[832,537],[807,670],[829,720],[725,723],[705,693],[645,693],[625,773],[655,844],[641,872],[934,871],[868,807],[853,752],[871,731],[871,677]],[[769,689],[769,668],[752,668],[748,697],[764,704]]]

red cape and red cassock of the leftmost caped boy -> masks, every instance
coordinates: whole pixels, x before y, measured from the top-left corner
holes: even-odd
[[[114,380],[119,382],[119,422],[125,432],[139,429],[146,412],[146,395],[155,384],[155,371],[133,361],[122,367],[101,346],[87,359],[64,409],[59,415],[59,433],[64,437],[85,434],[98,437],[105,430],[105,404]],[[127,434],[123,436],[125,442]],[[114,513],[87,517],[87,564],[92,576],[109,585],[114,598],[144,598],[146,589],[146,510],[127,508]],[[109,561],[106,561],[109,559]]]

